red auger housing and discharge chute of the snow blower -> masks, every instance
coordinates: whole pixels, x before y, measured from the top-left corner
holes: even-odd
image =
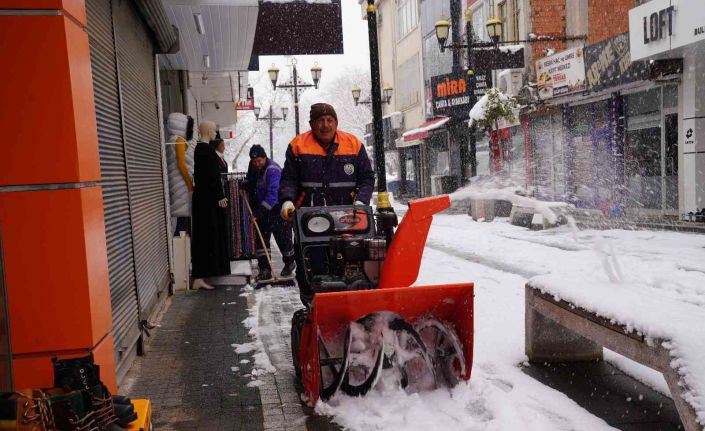
[[[379,286],[373,290],[319,293],[302,333],[299,367],[307,401],[315,404],[321,390],[318,337],[328,340],[351,321],[379,311],[391,311],[406,321],[432,315],[449,323],[463,344],[463,380],[470,379],[473,353],[473,283],[411,286],[418,277],[433,214],[450,207],[447,195],[409,202],[409,210],[395,233]]]

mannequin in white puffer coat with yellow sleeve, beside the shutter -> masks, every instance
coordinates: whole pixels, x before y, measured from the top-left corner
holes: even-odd
[[[189,231],[191,193],[193,192],[193,118],[180,112],[169,114],[166,145],[169,200],[174,235]]]

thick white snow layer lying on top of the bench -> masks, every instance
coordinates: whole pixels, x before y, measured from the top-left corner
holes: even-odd
[[[674,274],[675,275],[675,274]],[[646,336],[649,343],[667,340],[663,347],[671,367],[687,388],[686,401],[705,424],[705,309],[645,289],[642,283],[595,282],[585,277],[551,274],[531,284],[544,292],[595,312]]]

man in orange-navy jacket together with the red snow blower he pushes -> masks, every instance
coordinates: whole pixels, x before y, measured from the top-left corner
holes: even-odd
[[[305,306],[291,322],[302,399],[373,388],[411,393],[469,379],[472,284],[412,287],[433,215],[449,197],[409,202],[389,231],[396,216],[369,205],[374,172],[360,141],[337,130],[328,104],[311,107],[310,124],[289,145],[279,188]],[[377,174],[384,191],[383,169]]]

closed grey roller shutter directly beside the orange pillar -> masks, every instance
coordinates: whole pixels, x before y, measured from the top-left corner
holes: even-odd
[[[140,330],[111,2],[88,0],[86,11],[98,125],[115,361],[118,374],[121,374],[120,370],[129,367],[131,361],[128,358],[134,356],[131,354],[132,348],[137,343]]]

